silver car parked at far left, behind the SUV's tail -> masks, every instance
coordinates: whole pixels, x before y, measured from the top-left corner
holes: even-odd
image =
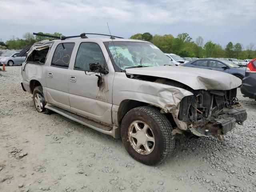
[[[22,65],[25,61],[26,56],[19,56],[20,52],[5,52],[0,56],[0,64],[5,64],[8,66]]]

